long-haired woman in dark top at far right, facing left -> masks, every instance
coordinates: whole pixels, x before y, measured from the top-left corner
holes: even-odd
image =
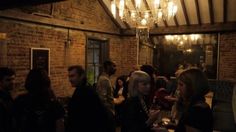
[[[204,96],[208,93],[208,81],[199,69],[188,69],[178,78],[180,99],[177,109],[181,109],[176,132],[212,132],[213,117]]]

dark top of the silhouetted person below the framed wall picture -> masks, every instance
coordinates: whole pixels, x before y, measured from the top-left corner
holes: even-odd
[[[56,121],[64,118],[64,108],[54,99],[31,94],[14,101],[14,115],[20,132],[56,132]]]

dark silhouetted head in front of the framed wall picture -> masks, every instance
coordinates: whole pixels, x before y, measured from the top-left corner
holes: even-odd
[[[26,77],[26,90],[37,97],[53,98],[54,94],[51,89],[51,81],[47,71],[43,69],[32,69]]]

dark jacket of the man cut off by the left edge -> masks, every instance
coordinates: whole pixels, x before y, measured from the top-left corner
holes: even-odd
[[[14,132],[12,104],[10,93],[0,90],[0,132]]]

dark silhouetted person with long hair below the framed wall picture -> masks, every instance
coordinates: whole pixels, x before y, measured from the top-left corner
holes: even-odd
[[[14,103],[19,132],[64,132],[64,109],[55,100],[46,71],[29,72],[25,88],[27,94]]]

